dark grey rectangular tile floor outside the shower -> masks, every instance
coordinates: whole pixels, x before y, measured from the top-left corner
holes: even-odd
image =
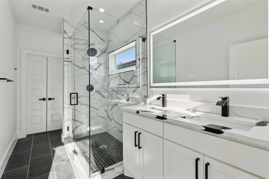
[[[62,131],[18,139],[1,179],[75,179]]]

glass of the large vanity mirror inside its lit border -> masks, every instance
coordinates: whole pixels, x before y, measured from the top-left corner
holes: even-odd
[[[176,40],[175,53],[168,39]],[[154,34],[151,40],[153,83],[268,79],[267,0],[226,0]],[[163,65],[156,64],[168,63],[168,56],[174,54],[175,65],[162,72]],[[159,78],[172,72],[174,78]]]

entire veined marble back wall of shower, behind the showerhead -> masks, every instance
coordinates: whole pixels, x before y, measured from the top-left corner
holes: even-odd
[[[90,48],[97,50],[97,54],[90,57],[90,82],[94,86],[94,90],[90,92],[91,113],[89,92],[86,90],[89,83],[87,36],[87,24],[64,19],[64,138],[83,137],[89,135],[89,132],[96,134],[107,131],[106,32],[90,27]],[[66,54],[67,49],[69,54]],[[75,73],[73,78],[71,73]],[[70,106],[69,93],[74,92],[74,88],[79,94],[79,104]],[[67,126],[69,132],[66,130]]]

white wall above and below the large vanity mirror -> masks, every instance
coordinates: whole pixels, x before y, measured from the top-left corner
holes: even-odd
[[[197,8],[206,1],[185,0],[148,0],[147,1],[147,32],[172,21],[176,17]],[[169,13],[167,13],[169,11]],[[149,36],[147,35],[149,38]],[[149,44],[148,52],[149,52]],[[149,59],[149,53],[148,59]],[[149,73],[148,73],[149,75]],[[269,108],[269,89],[154,89],[155,94],[179,94],[187,101],[215,103],[219,96],[230,96],[231,105]],[[150,92],[148,93],[150,96]]]

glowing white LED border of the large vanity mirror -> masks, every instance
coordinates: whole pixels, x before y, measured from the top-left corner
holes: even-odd
[[[213,0],[209,1],[208,3],[205,3],[204,5],[194,9],[193,11],[190,11],[189,13],[186,13],[183,16],[180,16],[176,20],[170,21],[167,24],[153,30],[150,33],[150,86],[151,88],[154,88],[155,86],[196,86],[196,85],[240,85],[240,84],[269,84],[269,60],[268,60],[268,78],[265,79],[249,79],[249,80],[220,80],[220,81],[192,81],[192,82],[174,82],[174,83],[153,83],[153,35],[156,33],[161,32],[162,30],[165,30],[169,27],[172,27],[175,24],[178,24],[182,21],[185,21],[188,18],[191,18],[199,13],[202,13],[203,11],[210,9],[211,7],[214,7],[226,0]],[[269,0],[268,0],[269,1]],[[268,2],[268,9],[269,9],[269,2]],[[268,19],[269,19],[269,13],[268,13]],[[269,34],[269,23],[268,23],[268,34]],[[268,38],[269,39],[269,38]],[[269,47],[269,41],[268,41],[268,47]],[[269,50],[268,50],[268,56],[269,56]]]

